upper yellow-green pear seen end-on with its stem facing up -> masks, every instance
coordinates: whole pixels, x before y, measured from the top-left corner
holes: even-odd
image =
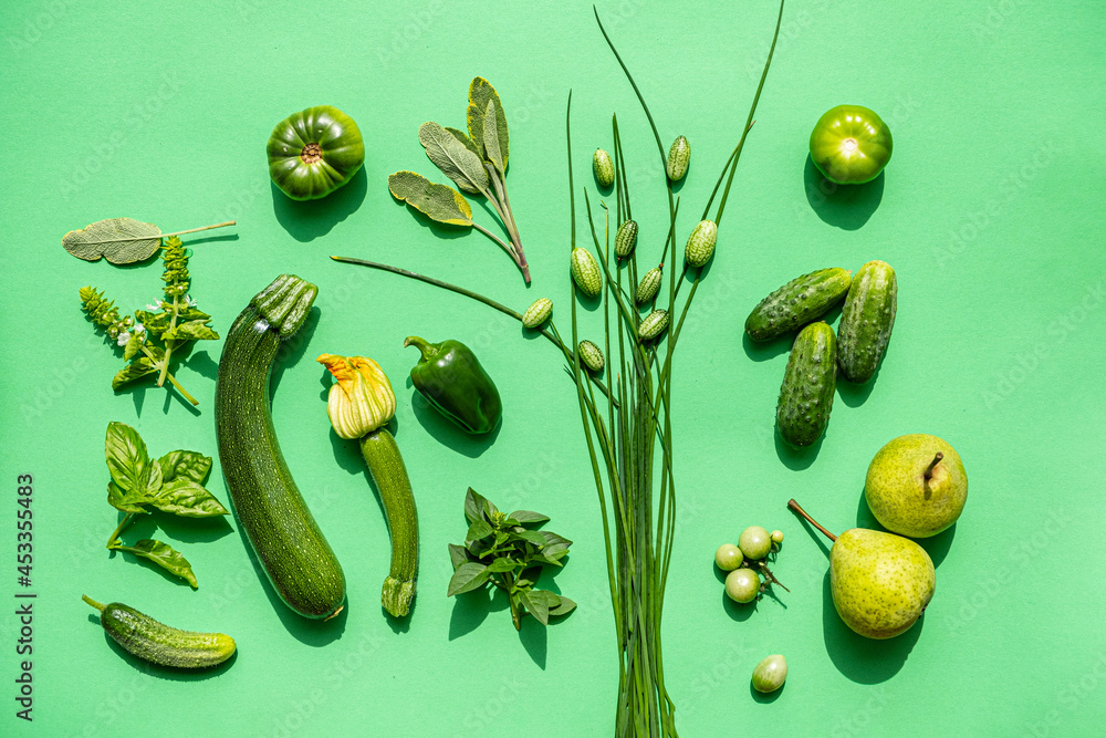
[[[968,475],[960,456],[937,436],[899,436],[872,459],[864,497],[887,530],[929,538],[960,517],[968,500]]]

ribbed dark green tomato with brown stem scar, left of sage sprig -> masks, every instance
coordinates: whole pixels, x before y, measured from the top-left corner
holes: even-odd
[[[267,152],[269,176],[293,200],[326,197],[365,163],[361,128],[331,105],[315,105],[278,123]]]

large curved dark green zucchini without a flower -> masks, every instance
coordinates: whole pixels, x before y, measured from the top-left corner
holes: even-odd
[[[332,617],[345,602],[345,575],[288,470],[269,406],[273,360],[317,292],[281,274],[231,325],[216,382],[216,435],[234,513],[273,589],[304,617]]]

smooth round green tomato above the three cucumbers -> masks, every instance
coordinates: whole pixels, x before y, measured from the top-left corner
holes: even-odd
[[[811,158],[826,179],[860,185],[875,179],[891,159],[891,132],[863,105],[838,105],[811,133]]]

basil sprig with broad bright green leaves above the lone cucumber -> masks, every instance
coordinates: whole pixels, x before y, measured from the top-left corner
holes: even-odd
[[[188,582],[199,584],[188,560],[168,543],[144,538],[134,545],[119,539],[136,514],[160,510],[184,518],[229,514],[215,495],[204,487],[211,472],[211,457],[196,451],[170,451],[150,459],[138,432],[123,423],[109,423],[104,441],[107,470],[107,503],[123,512],[123,520],[107,539],[112,551],[126,551]]]

